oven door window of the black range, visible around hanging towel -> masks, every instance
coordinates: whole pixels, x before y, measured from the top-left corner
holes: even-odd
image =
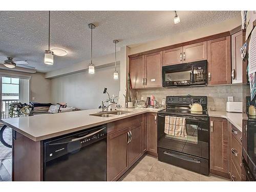
[[[165,134],[166,139],[181,140],[187,143],[198,143],[198,124],[191,121],[186,121],[186,137],[179,137]]]

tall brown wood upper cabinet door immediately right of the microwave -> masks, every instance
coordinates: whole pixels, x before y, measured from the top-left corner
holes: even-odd
[[[207,60],[208,84],[230,84],[230,36],[207,41]]]

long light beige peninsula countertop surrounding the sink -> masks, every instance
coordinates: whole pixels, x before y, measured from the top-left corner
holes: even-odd
[[[147,112],[157,113],[162,109],[120,109],[121,111],[130,111],[131,113],[113,117],[96,117],[90,115],[100,112],[100,110],[43,114],[30,117],[1,119],[1,121],[20,134],[34,141],[40,141]]]

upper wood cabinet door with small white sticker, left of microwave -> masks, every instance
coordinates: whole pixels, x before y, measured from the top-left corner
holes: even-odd
[[[145,88],[162,87],[162,51],[145,55]]]

